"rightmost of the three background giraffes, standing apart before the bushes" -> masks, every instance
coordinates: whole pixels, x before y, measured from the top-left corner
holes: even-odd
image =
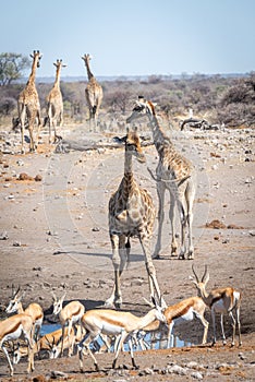
[[[93,122],[94,127],[97,129],[98,111],[102,102],[102,87],[90,71],[89,61],[92,56],[84,55],[82,59],[85,62],[88,77],[88,84],[85,88],[85,97],[89,109],[89,126],[92,127]]]

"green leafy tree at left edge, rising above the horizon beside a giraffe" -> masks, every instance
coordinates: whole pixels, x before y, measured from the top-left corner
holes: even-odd
[[[0,86],[21,79],[23,70],[31,65],[28,57],[20,53],[0,53]]]

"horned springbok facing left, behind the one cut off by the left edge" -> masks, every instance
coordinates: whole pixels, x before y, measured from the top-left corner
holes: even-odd
[[[17,313],[25,313],[31,315],[34,323],[33,338],[35,336],[35,341],[37,342],[40,333],[40,327],[44,321],[44,310],[39,306],[39,303],[36,303],[36,302],[29,303],[28,307],[24,310],[21,302],[24,295],[21,294],[20,291],[21,291],[20,287],[17,288],[16,291],[13,288],[12,298],[5,309],[5,312],[9,314],[17,312]]]

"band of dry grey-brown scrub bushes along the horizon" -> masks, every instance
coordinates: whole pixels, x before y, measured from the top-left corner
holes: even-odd
[[[41,115],[46,97],[54,79],[37,79]],[[169,123],[193,115],[209,123],[226,127],[255,127],[255,72],[248,74],[182,74],[150,75],[135,77],[97,77],[104,88],[104,100],[99,114],[101,123],[114,119],[124,121],[138,95],[157,103],[157,111]],[[61,92],[65,120],[83,122],[87,118],[84,77],[62,77]],[[2,86],[0,93],[0,117],[7,120],[17,116],[16,100],[24,88],[23,81]]]

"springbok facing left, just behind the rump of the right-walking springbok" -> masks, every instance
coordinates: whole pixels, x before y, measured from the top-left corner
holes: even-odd
[[[64,326],[68,325],[68,339],[70,342],[71,329],[75,323],[78,323],[85,312],[84,306],[80,301],[71,301],[63,308],[65,294],[61,298],[57,298],[53,293],[53,314],[59,314],[59,321],[62,326],[62,341],[60,357],[63,355]],[[69,345],[69,346],[70,346]]]

